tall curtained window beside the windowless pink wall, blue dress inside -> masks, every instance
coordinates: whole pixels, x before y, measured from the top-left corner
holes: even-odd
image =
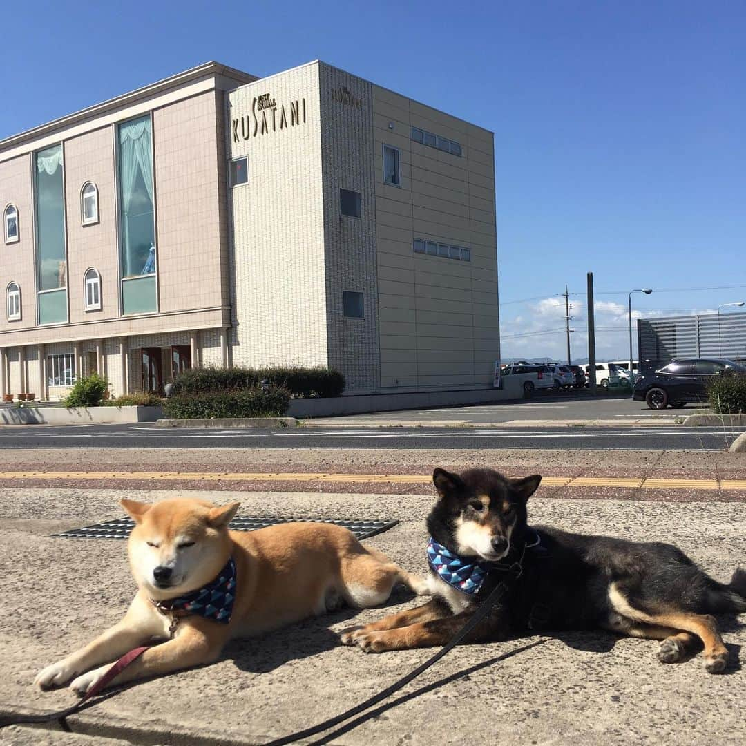
[[[122,310],[153,313],[157,310],[157,257],[150,115],[123,122],[118,135]]]

